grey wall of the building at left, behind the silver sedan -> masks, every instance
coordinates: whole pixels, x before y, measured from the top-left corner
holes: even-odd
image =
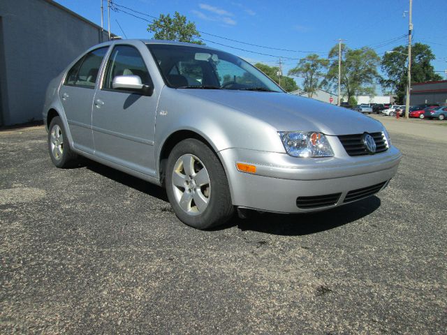
[[[108,40],[101,27],[50,0],[1,0],[0,25],[5,125],[42,119],[48,82],[81,52]]]

